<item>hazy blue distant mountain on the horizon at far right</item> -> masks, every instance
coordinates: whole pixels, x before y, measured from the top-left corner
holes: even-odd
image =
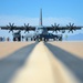
[[[65,39],[64,39],[65,40]],[[68,35],[69,41],[83,41],[83,33]]]

